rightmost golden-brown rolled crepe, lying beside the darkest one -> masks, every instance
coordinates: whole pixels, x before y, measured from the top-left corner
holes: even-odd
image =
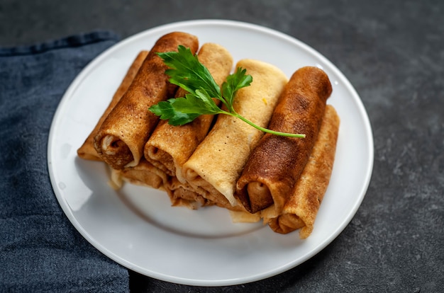
[[[264,215],[264,222],[268,223],[273,231],[287,234],[301,228],[299,231],[301,239],[306,239],[313,231],[316,214],[333,170],[339,123],[338,114],[333,106],[327,105],[309,161],[294,185],[282,214],[272,219],[267,219],[267,215]]]

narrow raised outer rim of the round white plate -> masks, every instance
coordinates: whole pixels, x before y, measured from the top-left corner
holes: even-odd
[[[55,132],[57,131],[57,125],[56,122],[59,119],[59,116],[62,112],[62,105],[65,103],[65,99],[70,97],[72,93],[76,90],[80,84],[82,84],[82,81],[84,78],[97,66],[101,64],[101,61],[109,57],[110,54],[112,54],[114,51],[118,50],[120,47],[125,47],[128,43],[134,42],[138,38],[145,38],[145,35],[154,34],[157,31],[163,31],[163,30],[170,30],[172,28],[179,28],[184,25],[229,25],[233,27],[242,27],[248,30],[256,30],[260,31],[262,33],[267,33],[270,35],[278,36],[279,38],[283,38],[284,40],[287,40],[289,42],[292,42],[299,47],[304,48],[306,52],[309,52],[310,54],[313,54],[317,59],[320,59],[322,62],[325,62],[328,64],[329,69],[335,71],[335,74],[338,76],[343,77],[343,82],[345,88],[347,88],[348,92],[351,93],[353,98],[355,99],[355,103],[357,105],[357,108],[360,112],[360,117],[362,117],[362,124],[365,127],[365,131],[367,133],[366,138],[367,140],[367,169],[365,171],[365,178],[364,182],[365,184],[362,185],[360,189],[360,197],[359,200],[355,202],[355,205],[353,205],[353,208],[350,209],[350,211],[347,214],[347,217],[345,217],[345,220],[343,223],[341,223],[338,227],[336,227],[335,231],[331,234],[330,237],[324,239],[316,248],[311,249],[309,253],[306,253],[306,255],[303,255],[299,260],[294,260],[292,262],[287,263],[287,265],[279,267],[279,269],[273,270],[273,271],[267,271],[262,272],[261,274],[257,274],[254,276],[251,276],[249,278],[243,278],[242,280],[221,280],[221,281],[211,281],[211,280],[191,280],[191,279],[184,279],[182,277],[171,277],[168,275],[162,275],[162,274],[154,274],[154,275],[147,275],[146,270],[143,270],[143,268],[139,268],[137,265],[134,265],[133,263],[128,262],[124,258],[119,257],[112,251],[109,251],[106,247],[102,246],[100,243],[96,243],[94,239],[91,239],[91,235],[84,229],[83,226],[77,222],[77,219],[75,219],[74,214],[72,214],[72,211],[69,207],[67,207],[66,202],[62,202],[62,196],[59,195],[59,190],[57,187],[57,183],[55,182],[55,173],[52,168],[52,142],[54,139]],[[337,238],[337,236],[345,229],[346,226],[351,222],[353,217],[355,216],[357,209],[359,209],[360,205],[362,204],[362,200],[364,200],[365,194],[367,193],[368,186],[370,185],[371,177],[372,177],[372,171],[373,171],[373,164],[374,164],[374,139],[372,134],[372,127],[370,124],[370,119],[367,115],[367,112],[365,110],[365,106],[362,103],[362,100],[360,96],[357,94],[357,91],[355,91],[355,88],[350,83],[350,81],[347,79],[345,74],[343,74],[336,66],[333,64],[330,60],[328,60],[326,57],[323,56],[323,54],[319,53],[313,47],[310,47],[304,42],[301,42],[300,40],[287,35],[285,33],[279,32],[278,30],[274,30],[272,28],[267,28],[262,25],[257,25],[254,23],[246,23],[243,21],[232,21],[232,20],[222,20],[222,19],[199,19],[199,20],[191,20],[191,21],[178,21],[173,23],[167,23],[164,25],[158,25],[153,28],[149,28],[147,30],[143,30],[140,33],[136,33],[135,35],[131,35],[128,38],[125,38],[121,40],[120,42],[117,42],[115,45],[112,45],[108,49],[104,50],[99,54],[97,57],[91,60],[89,64],[87,64],[82,71],[77,74],[77,76],[74,78],[70,86],[67,88],[67,91],[65,91],[64,95],[60,99],[59,104],[57,105],[57,109],[55,110],[55,114],[52,117],[52,122],[50,125],[50,132],[48,136],[48,172],[50,175],[50,182],[52,185],[52,189],[56,195],[57,202],[59,202],[60,207],[62,207],[63,212],[67,216],[67,218],[70,220],[71,224],[74,226],[77,231],[79,231],[80,234],[86,239],[89,243],[91,243],[92,246],[94,246],[96,249],[101,251],[101,253],[104,253],[107,257],[111,258],[111,260],[115,261],[116,263],[119,263],[120,265],[123,265],[124,267],[134,270],[135,272],[139,272],[142,275],[146,275],[148,277],[153,277],[158,280],[163,280],[166,282],[174,282],[177,284],[183,284],[183,285],[198,285],[198,286],[226,286],[226,285],[240,285],[245,284],[248,282],[255,282],[258,280],[263,280],[267,277],[272,277],[274,275],[279,275],[282,272],[285,272],[289,269],[295,268],[298,265],[301,265],[301,263],[304,263],[306,260],[309,260],[309,258],[312,258],[313,255],[316,255],[320,251],[322,251],[328,244],[330,244],[334,239]]]

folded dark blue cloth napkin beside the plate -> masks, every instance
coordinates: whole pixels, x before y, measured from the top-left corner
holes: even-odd
[[[93,32],[0,48],[0,292],[129,292],[128,270],[63,214],[46,155],[63,93],[117,41],[113,33]]]

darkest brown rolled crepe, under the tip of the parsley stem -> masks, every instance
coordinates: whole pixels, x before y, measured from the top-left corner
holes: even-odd
[[[321,69],[302,67],[294,72],[268,128],[306,137],[262,137],[236,185],[235,196],[249,212],[254,214],[273,204],[277,213],[282,210],[309,159],[331,91],[328,76]]]

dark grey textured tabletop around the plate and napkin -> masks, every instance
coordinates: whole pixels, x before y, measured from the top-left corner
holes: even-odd
[[[355,86],[374,134],[374,171],[349,226],[321,253],[267,280],[223,288],[133,272],[132,292],[443,292],[444,1],[0,2],[0,46],[96,29],[225,18],[306,42]],[[3,109],[2,109],[3,110]]]

